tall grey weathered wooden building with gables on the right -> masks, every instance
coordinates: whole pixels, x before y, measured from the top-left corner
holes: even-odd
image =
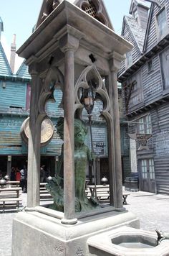
[[[133,45],[118,74],[128,132],[152,135],[148,147],[136,139],[140,190],[169,194],[169,1],[132,0],[122,36]]]

